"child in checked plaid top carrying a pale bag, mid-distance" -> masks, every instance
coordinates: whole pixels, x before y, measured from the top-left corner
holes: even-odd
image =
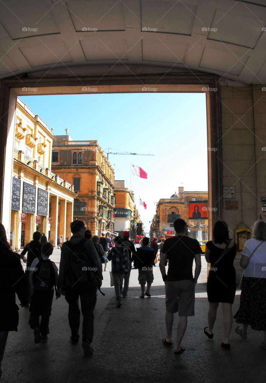
[[[126,247],[122,247],[122,238],[115,237],[115,246],[110,250],[107,259],[112,260],[112,275],[115,287],[117,307],[122,306],[123,280],[129,270],[129,255]]]

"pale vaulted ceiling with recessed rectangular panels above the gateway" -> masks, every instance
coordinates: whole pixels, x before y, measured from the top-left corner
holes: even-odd
[[[102,65],[265,84],[266,0],[1,0],[0,78]]]

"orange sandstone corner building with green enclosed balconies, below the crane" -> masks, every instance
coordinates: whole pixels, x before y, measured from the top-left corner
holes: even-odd
[[[82,219],[92,234],[113,232],[114,170],[98,142],[54,138],[52,169],[74,185],[74,219]]]

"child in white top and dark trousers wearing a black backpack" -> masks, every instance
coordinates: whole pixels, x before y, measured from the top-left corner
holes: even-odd
[[[49,318],[51,316],[54,287],[56,298],[61,296],[58,283],[58,268],[49,259],[53,254],[53,245],[46,242],[41,247],[40,259],[35,258],[30,266],[31,304],[29,325],[33,329],[34,342],[47,342]],[[39,322],[41,316],[41,322]]]

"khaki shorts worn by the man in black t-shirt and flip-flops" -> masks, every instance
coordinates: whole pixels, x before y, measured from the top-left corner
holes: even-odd
[[[168,313],[194,316],[195,285],[191,280],[165,282],[165,303]]]

